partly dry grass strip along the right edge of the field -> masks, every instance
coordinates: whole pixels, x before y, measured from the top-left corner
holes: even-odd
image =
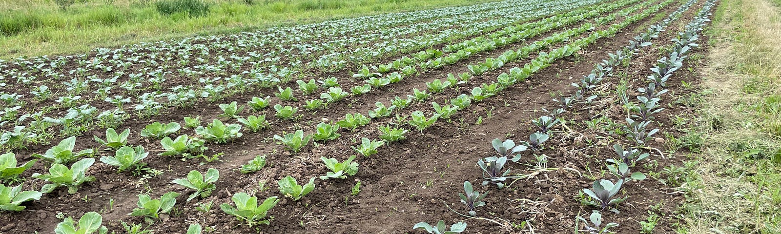
[[[776,2],[778,2],[776,0]],[[781,233],[781,11],[723,0],[714,14],[680,233]]]

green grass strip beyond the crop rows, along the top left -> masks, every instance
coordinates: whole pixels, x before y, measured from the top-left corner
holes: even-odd
[[[0,0],[0,58],[497,0],[91,0],[65,11],[34,1]]]

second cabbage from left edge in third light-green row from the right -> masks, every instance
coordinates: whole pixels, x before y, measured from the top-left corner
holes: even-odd
[[[82,183],[95,181],[93,176],[85,176],[87,168],[95,163],[95,158],[84,158],[73,163],[70,169],[66,165],[52,164],[48,174],[34,173],[33,178],[42,179],[48,184],[41,187],[42,193],[51,193],[57,187],[65,186],[68,193],[73,194],[79,190]]]

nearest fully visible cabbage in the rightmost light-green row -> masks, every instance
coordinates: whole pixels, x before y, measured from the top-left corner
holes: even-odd
[[[258,205],[258,197],[250,197],[247,193],[236,193],[231,197],[236,207],[223,203],[219,205],[226,214],[234,215],[236,218],[246,222],[249,227],[256,224],[269,225],[269,220],[265,219],[269,210],[280,202],[276,196],[266,198],[263,203]]]

